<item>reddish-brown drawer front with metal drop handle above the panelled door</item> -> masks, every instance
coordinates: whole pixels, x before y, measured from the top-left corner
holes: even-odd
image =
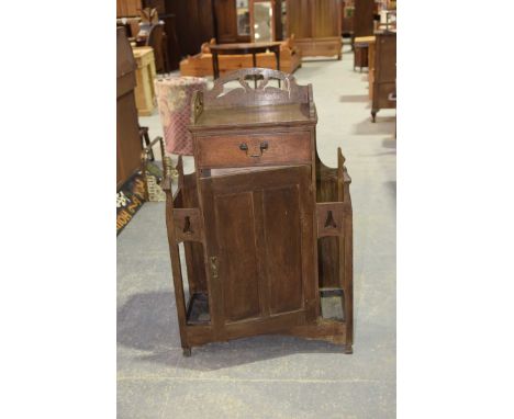
[[[197,137],[202,168],[311,163],[309,132]]]

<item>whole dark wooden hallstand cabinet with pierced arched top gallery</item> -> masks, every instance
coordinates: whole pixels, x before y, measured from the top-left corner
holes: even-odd
[[[179,159],[178,188],[165,181],[185,355],[262,333],[351,353],[350,179],[340,149],[336,169],[317,157],[312,87],[250,68],[197,91],[192,106],[195,172]]]

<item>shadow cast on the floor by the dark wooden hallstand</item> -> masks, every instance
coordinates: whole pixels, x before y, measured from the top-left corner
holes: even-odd
[[[118,343],[150,352],[138,356],[139,361],[175,365],[182,349],[174,293],[136,294],[123,304],[118,310]],[[180,367],[213,371],[302,352],[343,355],[343,348],[281,335],[257,336],[194,347]]]

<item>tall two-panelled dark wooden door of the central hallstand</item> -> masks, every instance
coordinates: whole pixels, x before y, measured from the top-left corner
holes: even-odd
[[[314,294],[310,166],[200,182],[216,332],[301,321]]]

